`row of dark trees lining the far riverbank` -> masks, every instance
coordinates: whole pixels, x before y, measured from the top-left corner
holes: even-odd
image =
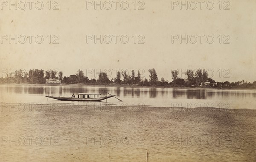
[[[138,85],[138,86],[169,86],[169,87],[218,87],[218,88],[255,88],[256,81],[253,83],[247,83],[246,81],[236,81],[236,82],[215,82],[212,78],[208,78],[208,74],[203,69],[198,69],[197,71],[187,70],[185,75],[186,79],[178,77],[179,72],[177,70],[172,70],[173,81],[169,82],[163,77],[158,79],[157,72],[154,68],[149,69],[149,80],[143,78],[140,71],[131,71],[131,75],[128,75],[126,71],[116,73],[116,77],[111,80],[108,78],[108,74],[105,72],[100,72],[98,78],[89,79],[86,77],[82,70],[78,70],[77,73],[64,76],[62,71],[45,71],[41,69],[30,69],[29,73],[23,70],[15,70],[15,75],[7,75],[6,78],[0,78],[0,83],[28,83],[28,84],[45,84],[46,79],[59,79],[61,83],[64,84],[128,84],[128,85]],[[122,79],[121,79],[122,77]]]

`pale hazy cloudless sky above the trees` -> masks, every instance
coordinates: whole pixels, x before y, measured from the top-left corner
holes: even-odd
[[[111,79],[115,77],[113,69],[128,69],[129,74],[131,70],[143,69],[143,75],[148,78],[148,69],[155,68],[159,80],[164,77],[172,81],[172,69],[185,72],[186,69],[202,68],[212,69],[209,73],[214,72],[212,78],[215,81],[256,80],[256,4],[253,0],[229,1],[230,4],[221,5],[221,10],[217,4],[219,1],[212,1],[212,10],[207,9],[205,3],[202,10],[199,3],[195,10],[189,6],[188,10],[185,7],[180,10],[172,1],[152,0],[137,1],[136,10],[132,4],[134,1],[127,1],[129,7],[126,10],[120,6],[122,1],[117,3],[117,9],[111,3],[109,10],[105,9],[109,4],[102,1],[102,10],[99,7],[95,10],[90,6],[94,1],[62,0],[58,1],[59,4],[51,4],[49,10],[48,1],[42,2],[44,7],[41,10],[35,8],[35,3],[31,10],[29,3],[23,10],[20,9],[23,4],[17,10],[14,7],[10,10],[9,4],[1,4],[1,69],[58,69],[66,76],[78,69],[85,74],[88,69],[97,69],[97,72],[110,69]],[[37,5],[41,7],[41,4]],[[59,10],[52,10],[56,5]],[[138,10],[142,5],[144,10]],[[194,7],[194,4],[190,5]],[[224,10],[225,6],[230,9]],[[122,3],[122,7],[125,8],[126,3]],[[15,40],[9,43],[9,35],[12,38],[17,35],[17,44]],[[20,43],[24,39],[20,35],[34,35],[31,44],[28,37],[24,44]],[[41,44],[35,42],[37,35],[44,38]],[[53,35],[58,35],[58,44],[53,43],[57,38]],[[103,43],[97,40],[95,44],[94,39],[87,39],[88,35],[98,38],[102,35]],[[112,38],[109,44],[105,43],[109,41],[106,35]],[[119,35],[116,43],[113,35]],[[128,36],[128,43],[120,41],[122,35]],[[188,43],[186,40],[180,43],[174,35],[183,38],[187,35]],[[197,41],[191,35],[195,35]],[[202,43],[198,35],[204,35]],[[209,42],[213,37],[213,43],[207,43],[206,36]],[[122,40],[126,41],[125,38]],[[138,44],[141,39],[144,44]],[[230,43],[224,44],[225,41]],[[89,78],[94,76],[89,75]]]

